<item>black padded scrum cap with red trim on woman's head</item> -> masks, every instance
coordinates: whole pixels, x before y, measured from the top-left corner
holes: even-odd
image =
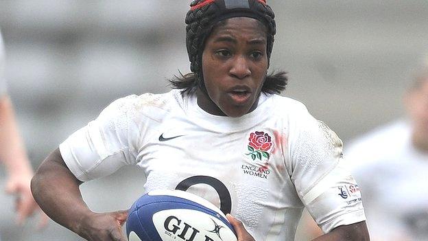
[[[190,6],[191,9],[186,16],[187,54],[189,54],[191,62],[190,69],[199,78],[202,76],[204,41],[209,36],[213,25],[224,19],[247,16],[261,21],[268,29],[266,51],[269,60],[276,33],[276,23],[275,14],[266,0],[195,0]]]

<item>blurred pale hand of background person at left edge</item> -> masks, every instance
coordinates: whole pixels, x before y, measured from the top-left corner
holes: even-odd
[[[32,175],[18,174],[11,175],[6,183],[5,192],[15,196],[16,223],[23,225],[25,220],[34,214],[34,211],[40,211],[40,220],[38,229],[47,226],[48,216],[38,207],[33,198],[29,183]]]

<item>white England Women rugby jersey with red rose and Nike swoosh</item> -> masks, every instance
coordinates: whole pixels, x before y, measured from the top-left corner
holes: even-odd
[[[365,220],[342,141],[300,102],[261,95],[242,117],[210,115],[180,91],[130,95],[60,144],[81,181],[139,165],[145,192],[180,189],[237,217],[255,240],[294,240],[307,207],[325,232]]]

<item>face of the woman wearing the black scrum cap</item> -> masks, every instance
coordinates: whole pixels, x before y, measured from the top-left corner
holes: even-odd
[[[266,29],[256,19],[227,19],[213,29],[202,54],[209,97],[198,104],[213,115],[240,117],[254,110],[268,71]]]

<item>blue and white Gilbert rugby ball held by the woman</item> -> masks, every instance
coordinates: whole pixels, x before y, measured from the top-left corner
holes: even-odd
[[[180,190],[155,190],[128,211],[130,241],[236,241],[222,211],[208,200]]]

